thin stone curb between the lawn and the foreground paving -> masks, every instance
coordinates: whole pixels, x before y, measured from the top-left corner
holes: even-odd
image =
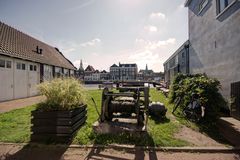
[[[116,149],[116,150],[145,150],[149,152],[162,151],[162,152],[192,152],[192,153],[240,153],[240,146],[238,147],[144,147],[144,146],[129,146],[129,145],[46,145],[38,143],[3,143],[0,145],[12,145],[12,146],[26,146],[30,147],[67,147],[67,148],[81,148],[81,149]]]

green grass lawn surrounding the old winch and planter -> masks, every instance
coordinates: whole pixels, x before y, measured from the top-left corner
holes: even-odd
[[[135,144],[150,146],[186,146],[186,141],[174,138],[174,134],[179,131],[182,124],[186,121],[178,120],[171,114],[172,105],[168,104],[167,98],[155,89],[150,90],[151,100],[164,103],[167,108],[167,117],[165,120],[156,122],[153,119],[148,121],[148,134],[137,137],[135,135],[97,135],[92,130],[92,124],[97,121],[98,115],[91,101],[93,97],[100,110],[101,90],[88,91],[88,119],[84,126],[78,131],[73,140],[74,144]],[[29,142],[30,140],[30,119],[31,111],[36,106],[17,109],[7,113],[0,114],[0,141],[1,142]],[[192,124],[191,124],[192,125]],[[194,126],[194,125],[192,125]],[[191,126],[190,126],[191,127]],[[194,126],[196,127],[196,126]],[[194,128],[193,127],[193,128]]]

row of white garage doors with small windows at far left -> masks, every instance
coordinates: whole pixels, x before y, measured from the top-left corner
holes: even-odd
[[[0,56],[0,101],[38,95],[39,68],[38,63]]]

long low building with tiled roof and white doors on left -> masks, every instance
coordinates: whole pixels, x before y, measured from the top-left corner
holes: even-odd
[[[0,101],[36,96],[36,85],[76,68],[57,49],[0,22]]]

